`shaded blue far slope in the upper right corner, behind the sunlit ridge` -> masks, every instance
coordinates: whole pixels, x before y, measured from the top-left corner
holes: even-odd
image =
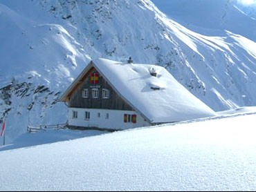
[[[256,1],[246,0],[152,0],[167,17],[203,35],[226,36],[232,31],[256,40]],[[247,2],[247,3],[246,3]],[[246,4],[245,4],[246,3]]]

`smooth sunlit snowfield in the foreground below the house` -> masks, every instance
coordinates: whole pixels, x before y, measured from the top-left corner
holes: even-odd
[[[255,191],[255,112],[75,140],[65,130],[27,133],[66,141],[2,147],[0,191]]]

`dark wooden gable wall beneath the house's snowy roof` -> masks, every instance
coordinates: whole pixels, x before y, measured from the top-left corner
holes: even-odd
[[[88,98],[82,97],[84,89],[88,90]],[[98,98],[92,97],[93,89],[98,89]],[[103,89],[109,90],[109,98],[102,98]],[[77,82],[69,98],[68,105],[72,108],[104,108],[134,111],[93,66]]]

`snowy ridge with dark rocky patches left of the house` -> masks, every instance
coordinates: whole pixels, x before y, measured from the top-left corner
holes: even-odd
[[[90,59],[61,25],[34,20],[37,13],[39,19],[46,15],[40,7],[8,3],[10,7],[0,3],[0,110],[11,141],[28,125],[66,122],[66,106],[57,100]]]

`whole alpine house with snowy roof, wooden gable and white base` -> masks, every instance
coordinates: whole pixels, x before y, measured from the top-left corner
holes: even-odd
[[[64,92],[68,125],[122,130],[216,115],[163,67],[91,61]]]

